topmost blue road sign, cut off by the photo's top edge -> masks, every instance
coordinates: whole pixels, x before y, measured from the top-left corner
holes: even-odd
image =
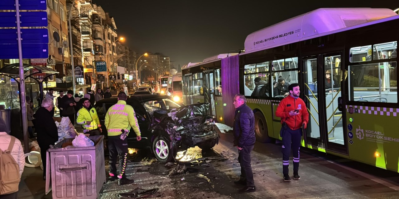
[[[46,10],[46,0],[20,0],[20,10]],[[15,10],[15,0],[0,0],[0,10]]]

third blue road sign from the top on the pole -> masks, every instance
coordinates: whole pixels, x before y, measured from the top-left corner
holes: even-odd
[[[48,29],[21,29],[22,44],[49,43]],[[0,29],[0,44],[18,44],[17,29]]]

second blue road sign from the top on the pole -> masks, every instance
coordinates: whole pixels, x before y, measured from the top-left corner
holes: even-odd
[[[0,27],[17,27],[16,12],[0,12]],[[21,27],[47,26],[47,12],[20,12]]]

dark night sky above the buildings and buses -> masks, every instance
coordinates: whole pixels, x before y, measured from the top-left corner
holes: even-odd
[[[244,49],[247,35],[317,8],[399,8],[399,0],[93,0],[137,53],[176,66]]]

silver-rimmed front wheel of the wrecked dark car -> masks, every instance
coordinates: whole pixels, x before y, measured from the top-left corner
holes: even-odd
[[[152,152],[159,162],[170,162],[174,159],[173,148],[170,147],[170,141],[163,136],[158,136],[152,142]]]

